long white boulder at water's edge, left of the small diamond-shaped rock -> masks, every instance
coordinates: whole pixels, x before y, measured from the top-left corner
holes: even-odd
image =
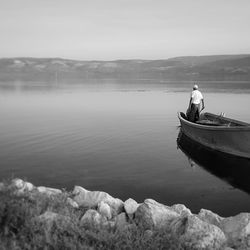
[[[123,201],[113,198],[111,195],[101,191],[88,191],[87,189],[75,186],[73,190],[74,201],[79,206],[96,207],[101,201],[104,201],[112,208],[112,213],[118,214],[123,208]]]

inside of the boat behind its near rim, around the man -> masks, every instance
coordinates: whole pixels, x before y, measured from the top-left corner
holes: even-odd
[[[188,120],[187,116],[183,112],[181,112],[181,117],[184,118],[185,120]],[[227,118],[223,114],[215,115],[208,112],[200,114],[200,118],[198,121],[196,121],[196,123],[207,126],[227,126],[227,127],[250,126],[249,123]]]

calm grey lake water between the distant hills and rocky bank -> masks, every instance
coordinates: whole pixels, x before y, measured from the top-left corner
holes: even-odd
[[[202,151],[197,159],[199,149],[178,149],[177,111],[186,110],[192,85],[1,83],[0,177],[183,203],[194,213],[250,212],[250,167],[243,166],[249,162],[230,160],[235,168],[228,173],[224,156],[220,161]],[[200,88],[206,111],[250,123],[250,83],[202,82]],[[236,168],[244,168],[241,175]]]

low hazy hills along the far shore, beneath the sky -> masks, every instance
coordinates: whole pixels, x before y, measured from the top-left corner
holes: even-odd
[[[77,61],[62,58],[2,58],[0,81],[84,79],[250,81],[250,55],[186,56],[166,60]]]

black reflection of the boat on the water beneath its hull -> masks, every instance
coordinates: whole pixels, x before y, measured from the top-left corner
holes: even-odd
[[[181,130],[177,145],[188,157],[191,167],[199,165],[233,187],[250,194],[250,159],[212,150],[193,141]]]

